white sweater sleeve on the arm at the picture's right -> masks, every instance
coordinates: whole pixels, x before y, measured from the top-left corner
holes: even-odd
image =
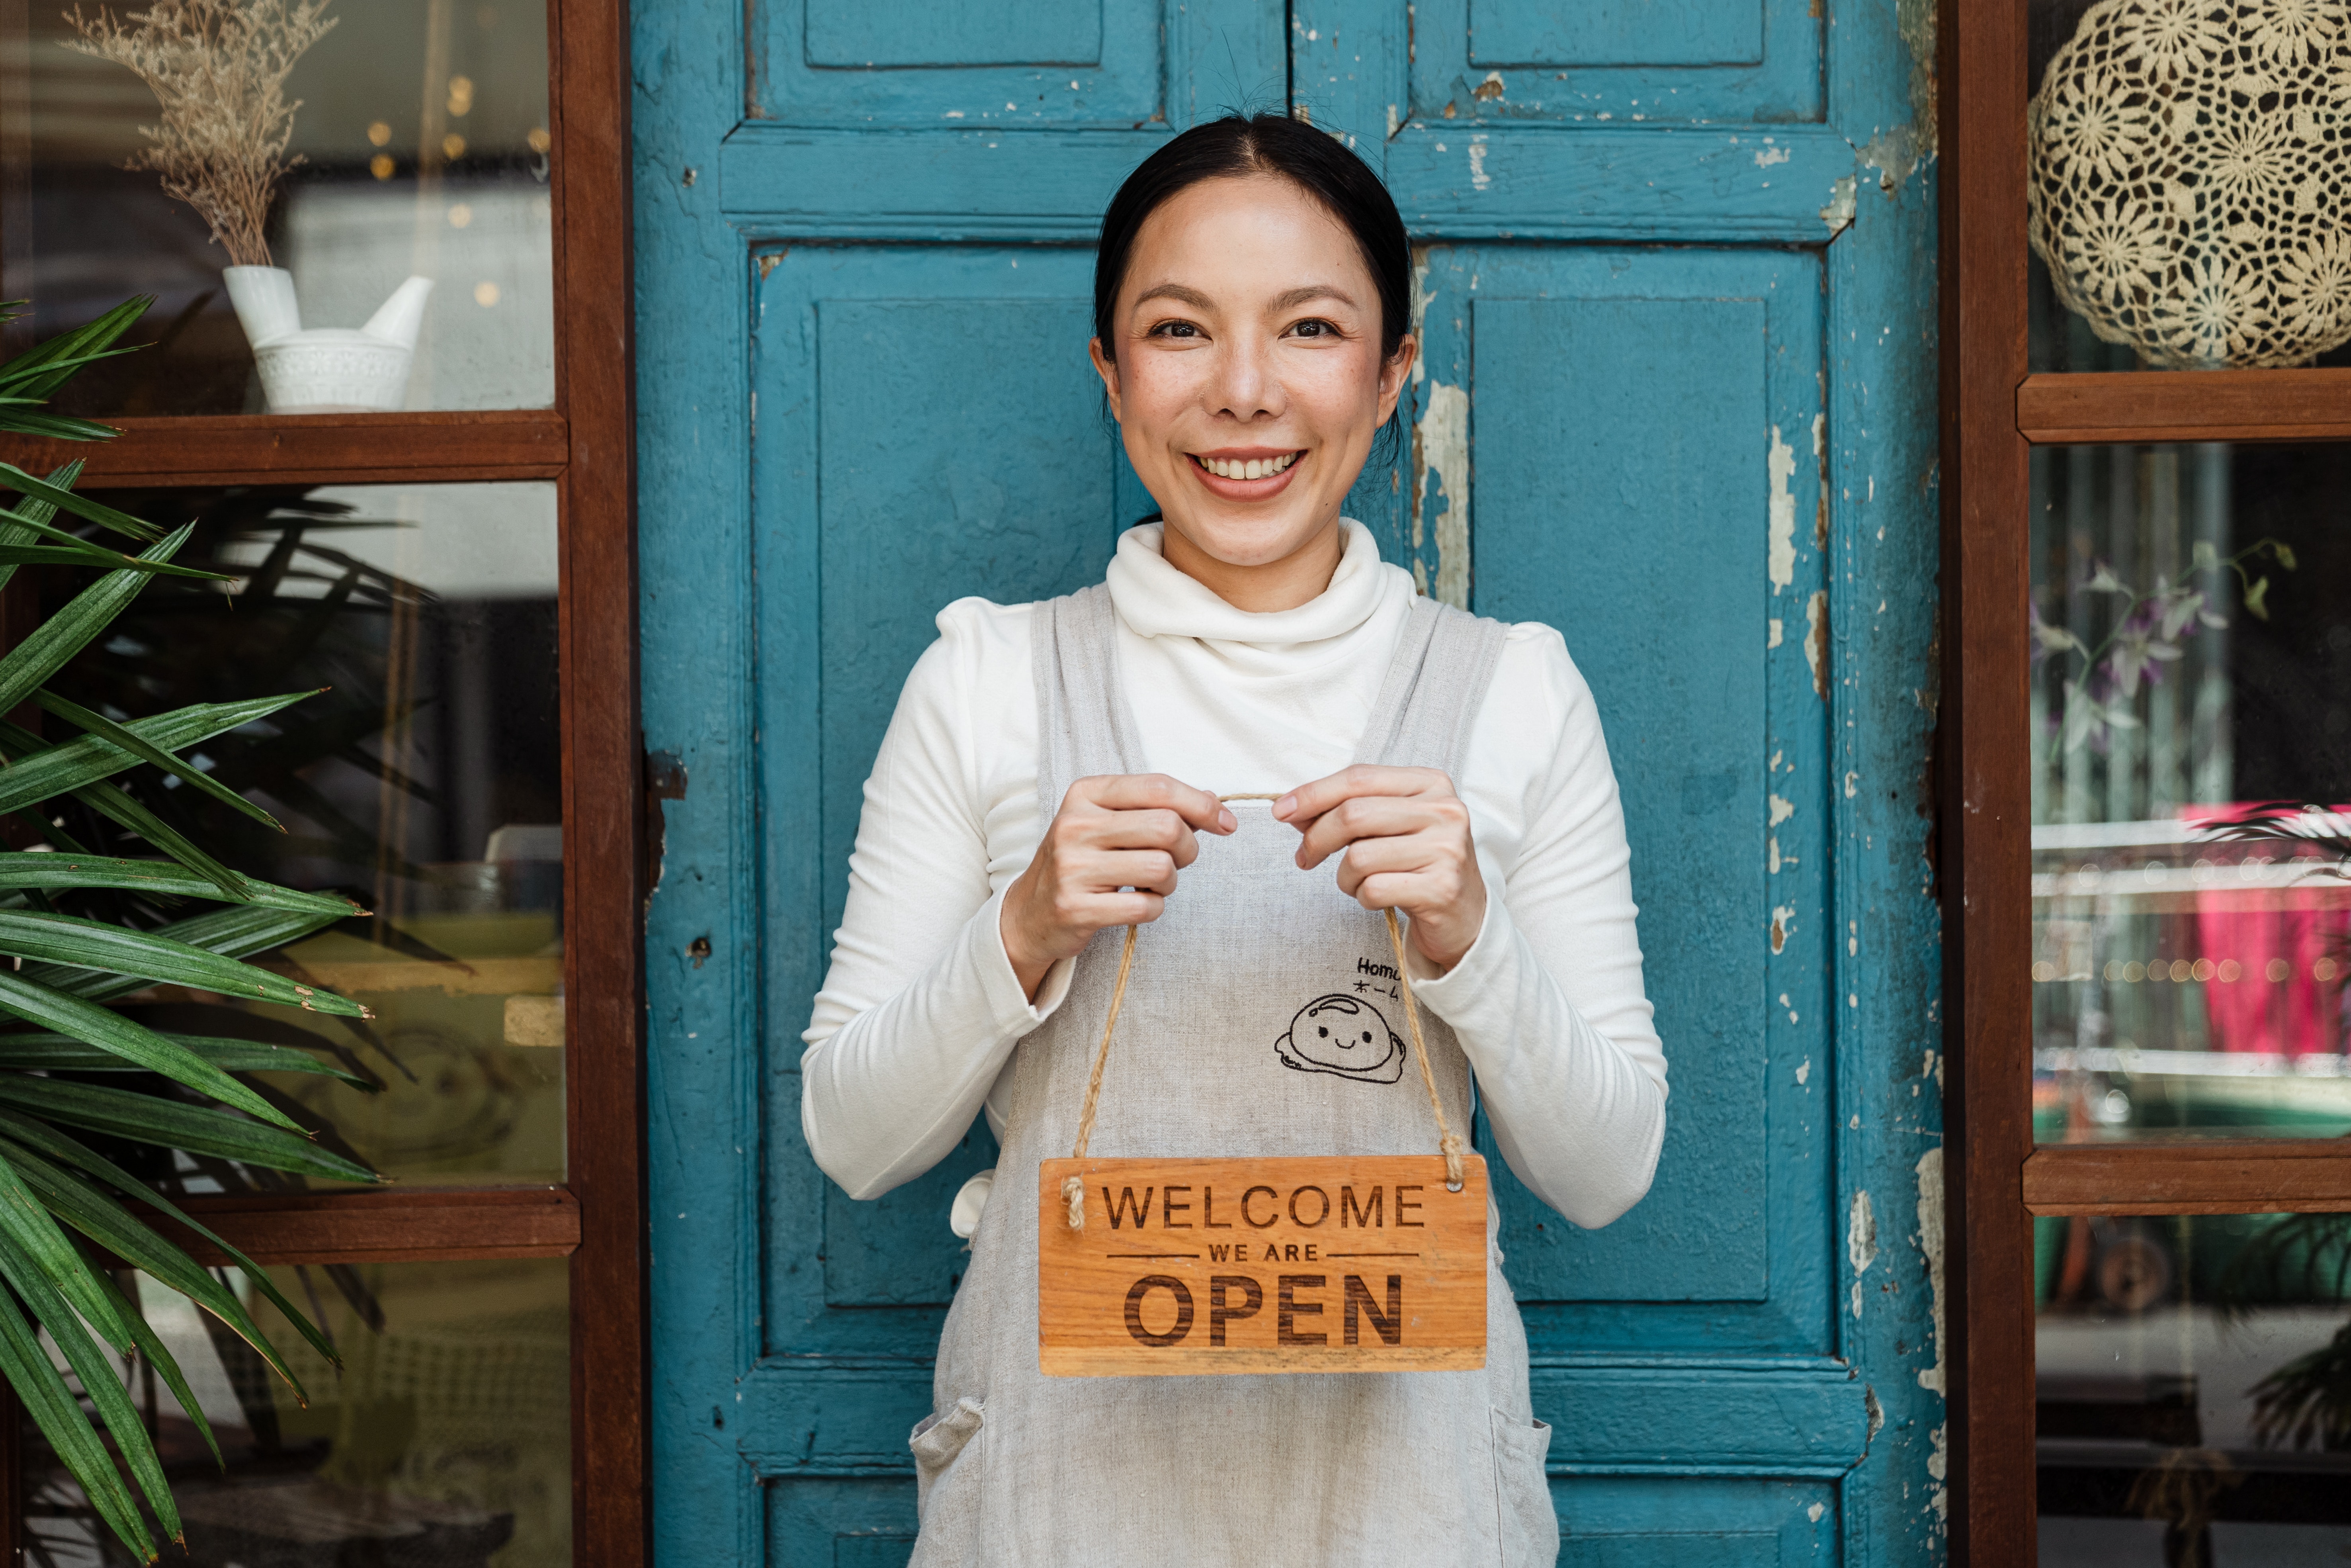
[[[1486,924],[1446,976],[1415,964],[1413,987],[1453,1025],[1519,1180],[1575,1225],[1608,1225],[1657,1168],[1665,1048],[1608,745],[1559,632],[1512,628],[1460,788]]]

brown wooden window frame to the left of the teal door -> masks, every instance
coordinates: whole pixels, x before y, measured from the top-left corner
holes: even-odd
[[[259,1262],[567,1258],[571,1552],[574,1561],[600,1568],[651,1556],[628,108],[628,2],[548,0],[552,407],[125,418],[122,435],[106,444],[33,444],[35,465],[85,458],[85,489],[555,482],[567,1180],[560,1187],[197,1197],[183,1206]],[[0,1396],[0,1537],[12,1547],[24,1519],[16,1448],[19,1413],[12,1396]]]

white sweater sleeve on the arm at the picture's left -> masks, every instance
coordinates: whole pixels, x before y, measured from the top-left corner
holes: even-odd
[[[959,599],[938,630],[865,780],[849,905],[802,1037],[809,1154],[858,1199],[955,1147],[1013,1046],[1070,985],[1070,964],[1056,964],[1032,1006],[997,926],[1004,886],[1037,844],[1034,764],[1018,766],[1034,733],[1004,731],[1023,712],[1034,731],[1034,710],[990,703],[983,743],[973,698],[1009,677],[1025,693],[1027,609]],[[1011,778],[999,778],[1006,757]]]

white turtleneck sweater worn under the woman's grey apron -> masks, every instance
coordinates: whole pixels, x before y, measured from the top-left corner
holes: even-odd
[[[1342,527],[1321,597],[1272,614],[1168,567],[1159,524],[1119,538],[1119,679],[1152,771],[1241,795],[1354,759],[1415,590],[1368,529]],[[1608,745],[1559,632],[1509,628],[1453,783],[1486,924],[1444,976],[1415,952],[1413,992],[1453,1025],[1519,1180],[1575,1225],[1606,1225],[1657,1166],[1665,1051]],[[1041,827],[1030,607],[957,599],[865,780],[849,907],[802,1037],[799,1124],[851,1197],[929,1171],[983,1105],[1002,1133],[1013,1046],[1070,990],[1072,966],[1056,964],[1032,1004],[997,924]]]

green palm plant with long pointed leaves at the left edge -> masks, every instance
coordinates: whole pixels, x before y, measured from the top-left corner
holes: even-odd
[[[40,404],[78,369],[125,353],[122,334],[150,303],[127,301],[87,327],[0,364],[0,433],[110,437],[113,430],[106,425],[49,414]],[[56,846],[45,853],[0,851],[0,898],[12,905],[0,907],[0,957],[14,957],[12,966],[0,966],[0,1020],[16,1018],[31,1025],[0,1030],[0,1375],[9,1380],[40,1434],[80,1481],[94,1516],[139,1559],[153,1561],[158,1547],[148,1519],[162,1523],[174,1540],[181,1535],[181,1523],[155,1441],[129,1399],[115,1356],[143,1356],[202,1432],[214,1458],[221,1448],[169,1347],[106,1267],[99,1267],[99,1253],[92,1248],[103,1248],[103,1258],[120,1258],[212,1312],[301,1399],[292,1368],[247,1307],[150,1222],[153,1215],[139,1208],[146,1204],[221,1248],[322,1356],[339,1361],[334,1342],[284,1298],[266,1269],[66,1128],[261,1171],[369,1182],[379,1180],[374,1171],[306,1133],[289,1114],[299,1110],[294,1100],[237,1074],[303,1072],[360,1088],[374,1084],[308,1051],[254,1039],[167,1034],[106,1006],[110,999],[165,983],[219,992],[237,1004],[270,1001],[350,1020],[367,1018],[367,1009],[357,1001],[245,961],[350,919],[360,914],[357,905],[237,875],[120,783],[122,773],[153,766],[167,776],[169,788],[186,790],[176,799],[216,802],[277,827],[266,809],[237,792],[240,773],[214,776],[183,752],[266,719],[301,696],[197,703],[165,715],[118,719],[113,715],[120,708],[101,712],[103,705],[82,705],[47,689],[68,663],[87,665],[96,658],[89,654],[92,644],[155,576],[226,581],[223,574],[174,559],[195,524],[167,534],[82,496],[75,491],[80,473],[80,463],[66,463],[49,477],[35,477],[0,461],[0,585],[9,583],[19,567],[71,567],[85,574],[96,569],[94,581],[63,609],[14,646],[0,649],[0,712],[35,701],[80,731],[52,743],[0,719],[0,816],[35,825]],[[141,555],[122,555],[96,543],[63,522],[66,517],[136,541]],[[132,686],[132,691],[146,689]],[[223,766],[254,750],[249,736],[226,743]],[[289,780],[287,788],[301,783],[294,776],[299,766],[301,759],[287,759],[280,769]],[[153,776],[141,776],[139,788],[150,783]],[[270,792],[296,804],[275,788]],[[167,858],[87,853],[66,832],[66,818],[59,813],[66,802],[110,820]],[[108,891],[132,893],[132,910],[167,907],[183,898],[219,900],[223,907],[146,931],[87,917],[94,907],[122,900],[75,903],[78,896]],[[146,1072],[179,1088],[148,1093],[85,1081],[85,1074]],[[179,1095],[200,1095],[205,1103]],[[49,1359],[42,1333],[63,1356],[71,1380]]]

